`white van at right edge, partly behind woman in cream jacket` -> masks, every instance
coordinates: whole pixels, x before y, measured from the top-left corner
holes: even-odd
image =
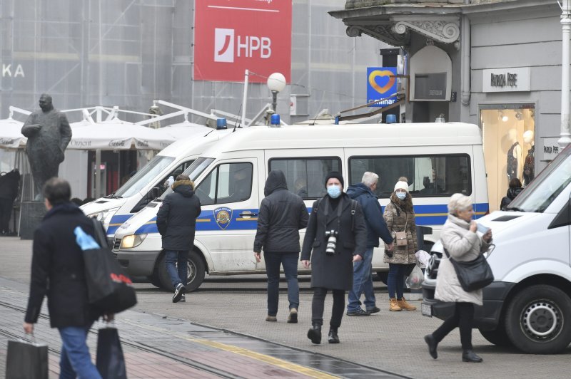
[[[557,353],[571,343],[571,147],[567,147],[505,211],[482,217],[492,228],[487,261],[495,281],[476,307],[475,328],[498,346],[532,354]],[[447,318],[450,303],[435,301],[443,248],[433,246],[425,271],[422,311]]]

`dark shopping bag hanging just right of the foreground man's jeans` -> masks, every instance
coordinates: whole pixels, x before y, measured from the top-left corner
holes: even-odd
[[[99,329],[96,366],[103,379],[127,379],[125,357],[116,328]]]

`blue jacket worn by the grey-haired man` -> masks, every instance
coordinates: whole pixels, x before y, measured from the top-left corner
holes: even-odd
[[[365,224],[367,225],[367,249],[379,246],[379,237],[385,244],[393,242],[393,237],[388,231],[387,224],[383,218],[383,209],[380,207],[378,197],[363,183],[350,185],[347,194],[351,199],[359,202]]]

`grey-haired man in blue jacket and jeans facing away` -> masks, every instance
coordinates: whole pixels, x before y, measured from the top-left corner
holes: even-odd
[[[353,264],[353,289],[349,291],[347,316],[369,316],[380,309],[375,304],[375,291],[373,290],[373,249],[379,246],[379,237],[388,245],[388,253],[393,249],[393,236],[383,218],[383,209],[375,194],[379,176],[375,172],[365,172],[363,179],[357,185],[350,185],[347,194],[351,199],[357,200],[363,209],[365,224],[367,224],[367,249],[362,261]],[[360,296],[365,294],[365,309],[361,308]]]

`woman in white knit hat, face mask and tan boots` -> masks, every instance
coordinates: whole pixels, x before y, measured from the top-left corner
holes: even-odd
[[[413,198],[408,193],[406,182],[397,182],[395,191],[390,194],[390,203],[385,207],[383,216],[393,236],[396,232],[405,232],[406,235],[406,244],[402,246],[398,246],[398,241],[395,239],[393,251],[389,252],[385,246],[385,263],[388,263],[389,311],[402,311],[403,309],[414,311],[416,307],[407,303],[403,296],[405,273],[410,271],[411,265],[416,264],[415,252],[418,251]]]

